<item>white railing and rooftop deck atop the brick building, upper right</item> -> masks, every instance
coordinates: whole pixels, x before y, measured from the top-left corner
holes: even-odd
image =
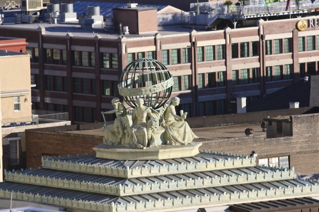
[[[269,14],[283,15],[304,12],[314,12],[319,9],[319,1],[310,0],[290,1],[290,7],[286,10],[287,2],[264,4],[263,1],[250,0],[247,5],[225,6],[218,2],[192,3],[191,12],[160,14],[157,17],[158,25],[197,24],[208,25],[214,18],[249,18],[252,16],[268,16]],[[199,14],[197,15],[197,6]]]

